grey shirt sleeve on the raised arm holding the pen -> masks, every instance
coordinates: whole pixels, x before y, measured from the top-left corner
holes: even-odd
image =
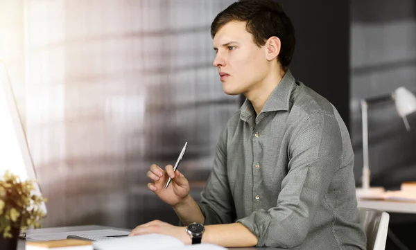
[[[198,203],[205,217],[204,224],[226,224],[235,220],[234,202],[227,178],[227,127],[218,141],[214,168]]]

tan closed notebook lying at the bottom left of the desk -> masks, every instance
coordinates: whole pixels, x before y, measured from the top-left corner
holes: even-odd
[[[93,250],[92,242],[86,240],[48,240],[26,242],[26,250]]]

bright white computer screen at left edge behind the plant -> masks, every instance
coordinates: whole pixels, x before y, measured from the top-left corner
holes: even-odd
[[[6,66],[0,63],[0,176],[6,170],[18,175],[22,181],[36,179],[35,168],[26,141],[26,133],[21,123],[15,96],[12,93]],[[40,195],[38,183],[35,193]],[[46,206],[41,204],[46,215]]]

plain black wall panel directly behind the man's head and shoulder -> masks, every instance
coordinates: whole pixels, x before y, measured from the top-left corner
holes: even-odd
[[[279,1],[295,26],[291,71],[327,98],[349,126],[349,1]]]

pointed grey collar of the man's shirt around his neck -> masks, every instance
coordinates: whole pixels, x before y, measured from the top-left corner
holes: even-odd
[[[281,78],[277,87],[272,91],[269,98],[266,100],[263,109],[261,112],[268,111],[279,111],[285,110],[288,111],[291,101],[292,89],[295,85],[295,78],[290,70],[286,71],[283,78]],[[256,116],[256,111],[250,102],[250,100],[245,99],[245,102],[241,106],[241,120],[247,121],[250,117]]]

